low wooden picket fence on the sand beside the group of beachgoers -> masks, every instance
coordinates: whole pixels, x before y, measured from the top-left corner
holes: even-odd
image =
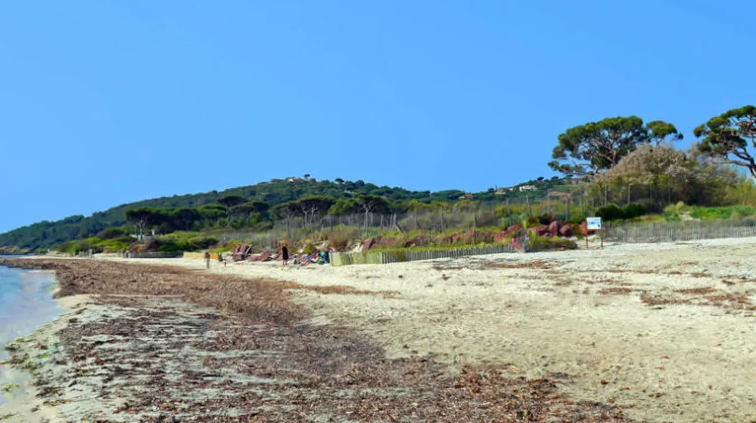
[[[396,252],[332,252],[330,261],[333,266],[349,264],[389,264],[401,261],[431,260],[433,258],[457,258],[468,255],[485,255],[515,252],[512,245],[487,245],[485,247],[469,247],[453,250],[413,250]]]

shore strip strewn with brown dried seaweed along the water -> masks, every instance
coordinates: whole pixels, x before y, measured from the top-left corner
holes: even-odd
[[[497,366],[454,372],[432,354],[388,359],[370,337],[323,325],[290,301],[290,292],[391,298],[386,292],[98,260],[17,261],[55,268],[60,295],[90,295],[47,328],[57,330],[60,344],[46,345],[42,355],[49,357],[35,369],[47,407],[36,415],[54,412],[60,421],[627,421],[621,407],[570,401],[548,379],[510,378]],[[45,336],[40,332],[36,342]],[[23,354],[33,355],[36,346]]]

